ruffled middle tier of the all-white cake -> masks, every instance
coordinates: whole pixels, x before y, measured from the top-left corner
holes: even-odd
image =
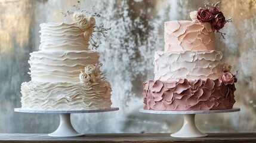
[[[87,64],[98,63],[94,51],[36,51],[30,53],[30,73],[36,82],[80,82]]]

